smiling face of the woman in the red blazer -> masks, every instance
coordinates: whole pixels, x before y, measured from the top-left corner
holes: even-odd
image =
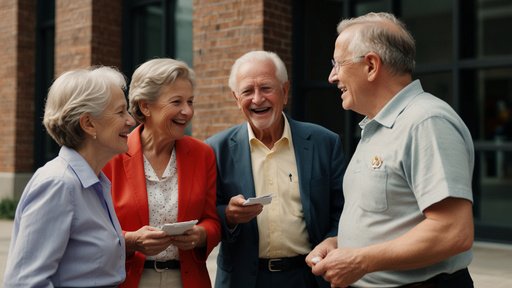
[[[146,129],[177,140],[185,135],[185,128],[194,116],[194,95],[190,81],[178,78],[160,90],[154,103],[147,104]]]

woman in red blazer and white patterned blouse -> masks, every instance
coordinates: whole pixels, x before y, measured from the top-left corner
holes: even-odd
[[[126,239],[120,287],[211,287],[206,259],[220,241],[212,149],[184,136],[192,119],[194,72],[183,62],[154,59],[135,70],[130,112],[139,125],[128,152],[103,169]],[[165,223],[198,220],[183,235]]]

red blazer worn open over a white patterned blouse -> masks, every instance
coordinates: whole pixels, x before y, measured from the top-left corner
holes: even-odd
[[[112,200],[123,233],[149,225],[146,178],[139,125],[128,136],[128,152],[115,156],[103,168],[112,182]],[[213,150],[185,136],[175,143],[178,170],[178,221],[198,219],[207,233],[207,246],[179,250],[184,288],[211,287],[206,259],[221,237],[216,212],[216,166]],[[126,257],[126,280],[119,287],[138,287],[146,257],[140,252]]]

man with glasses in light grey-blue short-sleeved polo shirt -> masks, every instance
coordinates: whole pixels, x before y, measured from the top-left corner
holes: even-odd
[[[412,80],[414,39],[388,13],[338,25],[329,82],[365,115],[338,237],[306,261],[333,287],[473,287],[471,135]],[[413,286],[411,286],[413,285]]]

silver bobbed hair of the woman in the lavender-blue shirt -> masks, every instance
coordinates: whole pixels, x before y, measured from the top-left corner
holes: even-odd
[[[60,75],[50,87],[43,124],[59,144],[79,148],[85,132],[80,116],[100,117],[112,99],[112,88],[126,90],[126,78],[116,68],[95,66],[71,70]]]

